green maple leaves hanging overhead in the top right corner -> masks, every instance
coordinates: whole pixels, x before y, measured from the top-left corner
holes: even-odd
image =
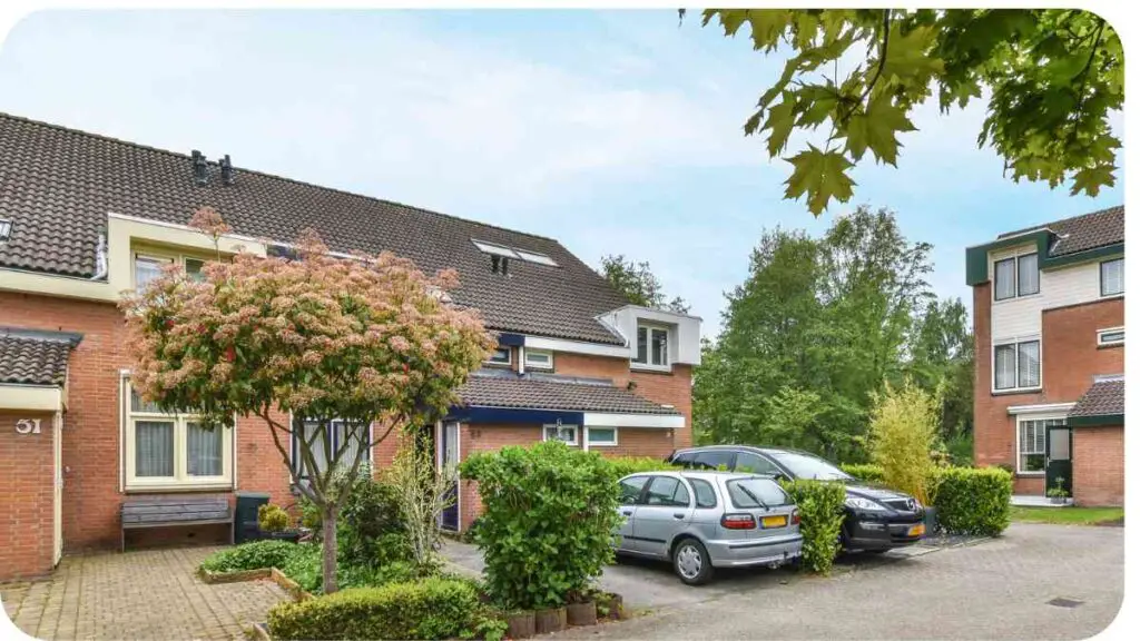
[[[682,16],[684,13],[682,11]],[[725,35],[744,25],[752,47],[793,54],[746,121],[768,155],[792,165],[784,197],[805,196],[819,216],[847,202],[849,171],[868,152],[896,165],[909,114],[938,91],[943,112],[988,89],[978,146],[992,145],[1015,181],[1070,181],[1096,196],[1116,182],[1118,138],[1108,115],[1124,102],[1124,54],[1094,14],[1049,9],[708,9]],[[860,50],[862,47],[862,51]],[[862,62],[849,66],[852,54]],[[796,130],[826,124],[821,149],[783,156]]]

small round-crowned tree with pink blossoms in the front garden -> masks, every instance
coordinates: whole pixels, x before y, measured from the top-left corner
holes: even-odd
[[[229,230],[212,209],[192,225],[214,240]],[[479,314],[448,302],[454,270],[427,277],[384,252],[335,258],[312,232],[299,258],[238,253],[209,262],[198,279],[169,268],[124,301],[142,398],[193,412],[219,429],[258,416],[294,485],[320,510],[324,590],[336,591],[336,520],[370,447],[392,430],[432,422],[494,341]],[[298,430],[288,414],[316,424]],[[333,422],[344,438],[318,464]],[[369,431],[367,425],[372,425]],[[291,463],[298,444],[307,477]],[[323,464],[327,461],[327,464]]]

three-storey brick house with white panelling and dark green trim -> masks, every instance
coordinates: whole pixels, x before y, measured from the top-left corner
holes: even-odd
[[[966,251],[974,287],[974,456],[1013,492],[1124,504],[1124,208]]]

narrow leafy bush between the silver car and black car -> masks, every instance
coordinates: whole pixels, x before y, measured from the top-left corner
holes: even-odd
[[[839,533],[844,526],[842,484],[800,479],[780,485],[799,508],[799,532],[804,535],[803,565],[826,574],[839,554]]]

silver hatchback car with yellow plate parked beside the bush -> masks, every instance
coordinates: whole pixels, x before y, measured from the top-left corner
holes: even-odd
[[[733,472],[640,472],[619,481],[619,554],[668,560],[684,583],[712,568],[779,567],[800,555],[799,511],[769,477]]]

